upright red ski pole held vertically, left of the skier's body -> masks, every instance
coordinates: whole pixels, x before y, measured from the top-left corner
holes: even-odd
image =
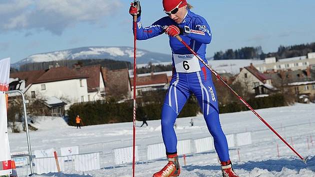
[[[137,1],[136,0],[133,0],[133,5],[137,5]],[[137,15],[133,15],[133,142],[132,142],[132,177],[134,177],[134,171],[135,171],[136,19],[137,19]]]

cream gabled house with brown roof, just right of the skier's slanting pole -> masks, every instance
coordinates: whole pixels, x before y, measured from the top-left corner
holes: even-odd
[[[261,73],[250,63],[249,66],[240,68],[240,72],[236,76],[235,82],[240,82],[243,88],[249,93],[266,94],[275,90],[271,84],[271,77]]]

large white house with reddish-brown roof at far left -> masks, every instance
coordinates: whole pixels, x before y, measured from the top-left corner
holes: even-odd
[[[65,109],[75,102],[88,100],[88,76],[68,67],[52,67],[47,70],[10,73],[11,80],[24,80],[24,87],[18,87],[29,98],[48,98],[56,96],[67,102]],[[14,82],[10,89],[19,86]]]

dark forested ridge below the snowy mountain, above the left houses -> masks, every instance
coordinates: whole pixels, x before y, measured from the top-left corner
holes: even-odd
[[[49,68],[49,65],[60,65],[72,68],[74,64],[81,64],[82,66],[100,64],[110,70],[112,69],[122,69],[131,68],[131,63],[129,61],[116,61],[112,59],[71,59],[71,60],[58,60],[58,61],[47,61],[47,62],[32,62],[26,63],[19,67],[19,71],[29,71],[29,70],[41,70]]]

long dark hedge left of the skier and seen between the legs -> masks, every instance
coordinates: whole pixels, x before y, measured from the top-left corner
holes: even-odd
[[[137,100],[136,118],[142,120],[144,115],[148,119],[160,119],[163,102],[150,102],[141,105]],[[194,96],[191,96],[183,107],[178,117],[195,116],[199,110]],[[84,125],[103,123],[116,123],[132,121],[132,100],[117,103],[113,100],[95,101],[72,104],[68,109],[68,124],[75,125],[75,116],[78,114]]]

